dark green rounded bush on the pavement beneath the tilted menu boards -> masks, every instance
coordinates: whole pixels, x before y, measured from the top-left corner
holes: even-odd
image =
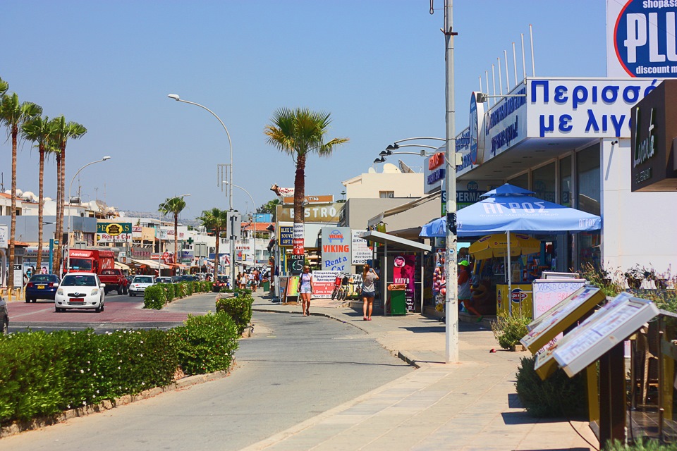
[[[585,415],[587,397],[585,371],[569,378],[557,369],[545,381],[534,370],[536,357],[523,357],[517,371],[517,395],[530,415],[537,418]]]

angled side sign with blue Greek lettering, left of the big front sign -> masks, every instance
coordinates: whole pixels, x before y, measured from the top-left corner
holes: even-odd
[[[493,158],[527,137],[526,87],[518,85],[510,95],[484,114],[482,162]],[[472,163],[472,161],[471,161]]]

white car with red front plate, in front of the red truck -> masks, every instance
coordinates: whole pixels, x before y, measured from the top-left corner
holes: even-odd
[[[63,276],[54,295],[56,311],[66,309],[94,309],[104,311],[105,283],[93,273],[68,273]]]

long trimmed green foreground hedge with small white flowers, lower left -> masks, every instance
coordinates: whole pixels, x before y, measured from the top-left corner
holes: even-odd
[[[188,374],[227,369],[238,338],[226,314],[189,317],[169,332],[0,335],[0,424],[168,385],[179,367]]]

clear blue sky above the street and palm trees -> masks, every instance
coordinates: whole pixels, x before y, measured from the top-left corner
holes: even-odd
[[[428,0],[36,1],[6,2],[0,77],[21,101],[63,114],[87,134],[67,148],[66,183],[80,173],[83,199],[156,211],[189,192],[185,217],[228,206],[216,164],[230,159],[226,133],[196,106],[212,109],[233,142],[234,183],[258,205],[272,183],[293,187],[291,157],[266,143],[276,109],[328,111],[329,137],[350,142],[307,163],[306,194],[334,194],[364,173],[384,147],[405,137],[444,137],[443,2]],[[604,76],[602,0],[456,0],[456,130],[468,123],[470,92],[534,27],[536,75]],[[504,66],[502,66],[504,69]],[[496,69],[496,75],[498,75]],[[505,74],[504,74],[505,78]],[[417,156],[402,156],[422,166]],[[37,151],[19,150],[18,187],[37,193]],[[391,159],[396,163],[396,159]],[[0,172],[11,187],[11,141],[0,142]],[[56,163],[45,192],[56,194]],[[76,181],[73,184],[73,192]],[[235,189],[236,209],[251,211]]]

